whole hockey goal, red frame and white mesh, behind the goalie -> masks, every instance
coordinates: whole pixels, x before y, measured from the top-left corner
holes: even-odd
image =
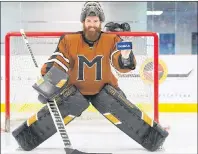
[[[27,38],[39,67],[55,51],[62,32],[27,32]],[[137,60],[136,70],[126,74],[114,72],[127,98],[158,121],[158,36],[150,32],[119,32],[124,41],[131,41]],[[2,76],[2,130],[11,131],[36,113],[43,104],[37,100],[32,85],[39,78],[20,32],[5,37],[5,74]],[[4,72],[3,72],[4,73]],[[90,107],[77,120],[103,117]]]

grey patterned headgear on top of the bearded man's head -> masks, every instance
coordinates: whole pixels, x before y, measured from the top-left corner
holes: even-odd
[[[105,15],[98,2],[86,2],[82,8],[80,21],[85,21],[87,16],[98,16],[101,22],[105,21]]]

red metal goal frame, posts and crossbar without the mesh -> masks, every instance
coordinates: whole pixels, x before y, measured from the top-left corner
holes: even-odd
[[[26,35],[28,38],[59,38],[61,35],[63,35],[66,32],[26,32]],[[68,32],[71,33],[71,32]],[[158,111],[158,93],[159,93],[159,81],[158,81],[158,35],[154,32],[113,32],[121,37],[133,37],[133,38],[152,38],[153,40],[153,103],[154,103],[154,120],[159,121],[159,111]],[[10,83],[11,81],[11,40],[14,37],[21,37],[20,32],[9,32],[5,36],[5,131],[10,130],[10,118],[11,118],[11,88],[12,85]],[[133,42],[133,41],[132,41]],[[140,45],[141,46],[141,45]],[[52,49],[54,50],[54,49]],[[27,51],[28,52],[28,51]],[[33,51],[34,52],[34,51]],[[53,52],[53,51],[52,51]],[[49,54],[50,55],[50,54]],[[32,63],[32,61],[30,62]]]

